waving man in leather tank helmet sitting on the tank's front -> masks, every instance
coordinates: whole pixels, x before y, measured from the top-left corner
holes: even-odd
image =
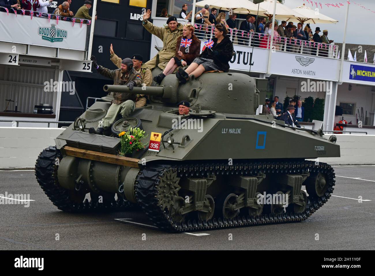
[[[133,60],[128,57],[121,61],[121,68],[116,70],[110,70],[98,65],[95,56],[91,56],[91,60],[93,61],[93,66],[101,75],[113,79],[114,85],[125,85],[129,87],[129,90],[133,90],[134,86],[142,86],[141,74],[135,71],[133,68]],[[89,133],[102,135],[104,130],[115,121],[118,113],[121,113],[121,116],[126,118],[134,111],[136,94],[115,92],[113,97],[114,100],[108,109],[107,115],[105,115],[101,123],[99,123],[98,129],[95,130],[95,128],[91,127]]]

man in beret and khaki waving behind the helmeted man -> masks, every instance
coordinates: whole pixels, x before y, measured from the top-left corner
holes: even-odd
[[[121,58],[118,57],[113,51],[113,46],[110,47],[111,53],[111,62],[116,65],[118,68],[121,68]],[[152,84],[152,73],[148,68],[141,68],[143,63],[143,57],[140,54],[132,55],[131,59],[133,60],[133,68],[142,76],[142,81],[145,86],[151,86]],[[142,84],[143,85],[143,84]],[[135,107],[142,107],[146,105],[146,97],[144,95],[137,94],[137,99],[135,102]]]

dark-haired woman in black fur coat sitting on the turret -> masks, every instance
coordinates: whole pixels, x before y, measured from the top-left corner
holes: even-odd
[[[182,68],[178,69],[176,77],[181,83],[186,83],[190,75],[197,78],[205,71],[229,72],[229,60],[233,56],[233,43],[227,36],[227,30],[223,25],[217,24],[214,33],[213,47],[206,47],[185,71]]]

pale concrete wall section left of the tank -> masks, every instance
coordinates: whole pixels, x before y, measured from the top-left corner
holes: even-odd
[[[32,168],[63,128],[0,127],[0,169]]]

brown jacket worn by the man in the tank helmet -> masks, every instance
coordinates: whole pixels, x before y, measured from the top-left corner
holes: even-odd
[[[113,79],[114,85],[126,85],[129,81],[133,81],[134,86],[142,86],[142,76],[132,68],[129,75],[124,75],[121,69],[110,70],[99,65],[98,72],[104,77]],[[132,93],[118,93],[115,92],[113,97],[115,98],[112,103],[120,104],[127,100],[136,100],[136,94]]]

